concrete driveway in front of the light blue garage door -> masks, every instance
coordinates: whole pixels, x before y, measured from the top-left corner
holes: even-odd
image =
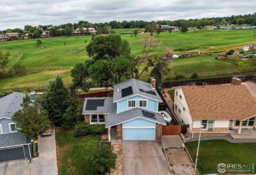
[[[171,174],[161,141],[123,141],[125,175]]]

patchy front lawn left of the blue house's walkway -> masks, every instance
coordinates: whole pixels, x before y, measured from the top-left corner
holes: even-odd
[[[93,172],[87,157],[100,145],[100,136],[75,137],[74,131],[56,130],[58,174],[88,174]]]

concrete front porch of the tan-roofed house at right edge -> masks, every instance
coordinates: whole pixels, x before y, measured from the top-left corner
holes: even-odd
[[[256,129],[242,129],[241,134],[238,134],[238,129],[229,130],[230,136],[234,139],[243,138],[255,138],[256,139]]]

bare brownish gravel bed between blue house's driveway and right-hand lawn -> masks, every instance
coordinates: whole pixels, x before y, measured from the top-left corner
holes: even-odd
[[[194,171],[192,163],[186,149],[184,148],[167,148],[165,149],[169,164],[173,170],[173,174],[197,174]]]

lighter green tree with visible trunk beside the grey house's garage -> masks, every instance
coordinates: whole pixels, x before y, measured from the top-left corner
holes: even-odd
[[[33,155],[35,155],[35,139],[45,132],[50,125],[48,113],[43,108],[38,112],[35,103],[30,101],[30,96],[26,94],[23,98],[22,110],[18,110],[12,116],[12,121],[16,123],[17,131],[33,139]]]

